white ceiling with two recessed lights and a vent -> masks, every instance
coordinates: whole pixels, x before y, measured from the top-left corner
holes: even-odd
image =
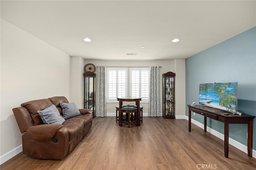
[[[256,1],[1,0],[1,18],[70,56],[168,60],[256,26]]]

